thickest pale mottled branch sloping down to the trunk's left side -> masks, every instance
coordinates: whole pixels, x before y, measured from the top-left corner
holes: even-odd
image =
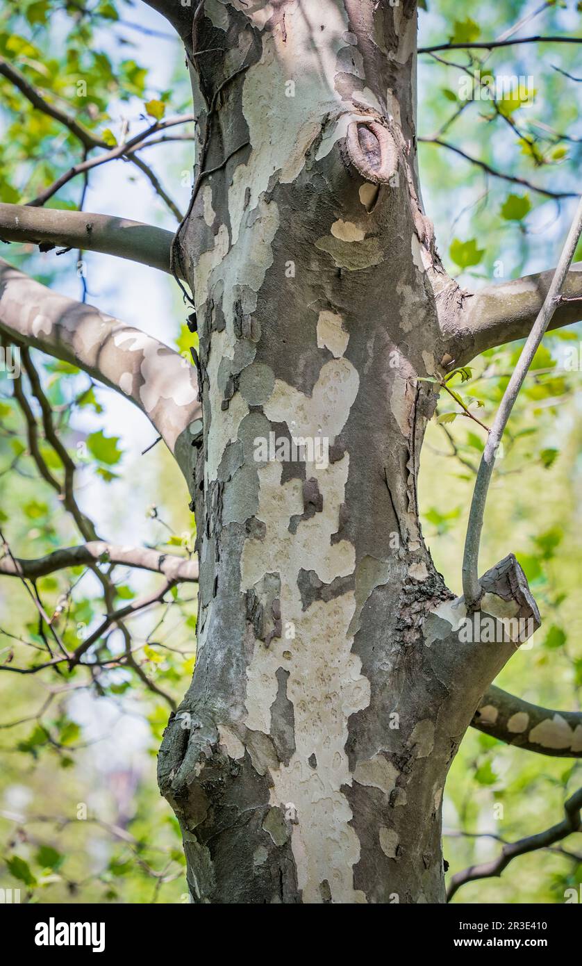
[[[179,353],[91,305],[51,292],[3,259],[0,330],[123,393],[172,452],[180,433],[201,417],[196,374]]]

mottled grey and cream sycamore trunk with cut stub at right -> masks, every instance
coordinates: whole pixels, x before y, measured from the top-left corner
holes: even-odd
[[[419,524],[456,289],[418,200],[416,29],[406,0],[208,0],[194,28],[228,52],[192,61],[198,657],[159,779],[196,902],[444,901],[446,775],[514,647],[459,641]],[[485,584],[537,619],[513,558]]]

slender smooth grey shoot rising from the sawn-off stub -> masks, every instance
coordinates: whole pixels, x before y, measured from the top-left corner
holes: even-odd
[[[495,466],[495,457],[499,448],[499,443],[513,410],[513,404],[517,398],[517,393],[523,384],[527,371],[532,363],[532,359],[540,346],[543,333],[556,311],[560,302],[562,288],[566,281],[568,269],[576,250],[576,245],[582,233],[582,197],[578,202],[578,207],[572,221],[568,238],[562,250],[558,267],[551,281],[549,291],[543,300],[540,313],[534,327],[532,328],[526,343],[519,356],[519,361],[515,366],[511,379],[503,394],[499,409],[493,420],[493,425],[485,443],[485,450],[481,459],[475,490],[471,500],[469,510],[469,522],[467,524],[467,535],[465,538],[465,549],[462,562],[462,588],[465,602],[469,608],[474,607],[483,594],[481,583],[479,582],[479,546],[481,543],[481,531],[483,529],[483,517],[485,513],[485,501],[489,482]]]

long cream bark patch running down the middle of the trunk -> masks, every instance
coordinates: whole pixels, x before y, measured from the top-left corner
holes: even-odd
[[[346,424],[358,385],[357,371],[346,358],[331,359],[321,367],[311,396],[276,380],[264,413],[272,422],[286,422],[292,413],[297,436],[319,433],[331,444]],[[281,580],[282,636],[268,647],[255,641],[247,668],[245,724],[269,734],[277,670],[289,671],[287,698],[293,706],[295,750],[289,765],[269,769],[271,803],[296,814],[291,847],[304,902],[321,902],[319,886],[324,880],[334,902],[366,901],[353,888],[352,867],[359,860],[360,846],[342,791],[352,781],[347,721],[370,703],[370,683],[361,673],[360,658],[351,652],[349,626],[356,601],[348,591],[327,602],[315,600],[304,611],[297,583],[301,569],[314,571],[324,583],[354,572],[353,545],[331,540],[346,497],[348,467],[347,453],[326,466],[307,462],[306,478],[317,480],[322,508],[300,520],[291,533],[291,517],[304,510],[302,481],[292,478],[282,485],[282,465],[261,464],[256,515],[265,533],[262,540],[246,540],[240,568],[242,592],[254,588],[265,573],[277,573]]]

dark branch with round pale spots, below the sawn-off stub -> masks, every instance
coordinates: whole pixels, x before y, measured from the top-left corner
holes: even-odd
[[[582,711],[543,708],[492,685],[471,725],[528,752],[582,758]]]

